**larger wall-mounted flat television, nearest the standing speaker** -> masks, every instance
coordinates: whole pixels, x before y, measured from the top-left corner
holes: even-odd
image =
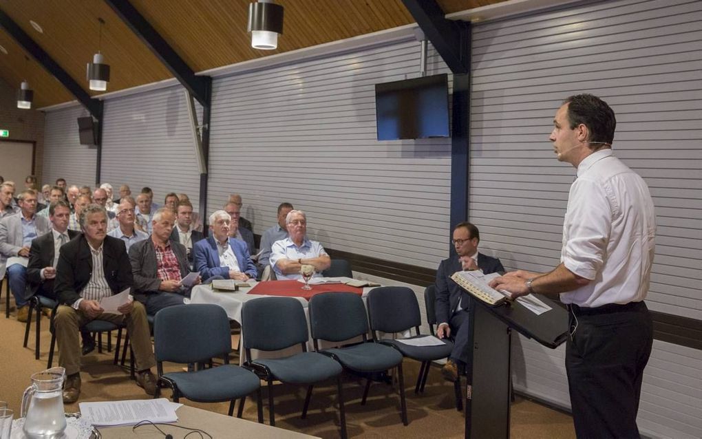
[[[376,84],[378,140],[449,137],[449,75]]]

